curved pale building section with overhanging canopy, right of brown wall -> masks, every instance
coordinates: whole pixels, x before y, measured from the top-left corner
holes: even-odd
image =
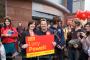
[[[69,10],[62,3],[63,0],[33,0],[32,17],[34,19],[44,17],[52,20],[53,16],[59,16],[63,20],[64,14],[68,14]]]

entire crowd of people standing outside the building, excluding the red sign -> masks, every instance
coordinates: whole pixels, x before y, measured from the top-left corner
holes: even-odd
[[[26,29],[27,28],[27,29]],[[26,58],[26,36],[53,34],[55,53]],[[27,27],[19,23],[13,27],[9,18],[5,18],[4,26],[0,27],[0,59],[13,60],[18,55],[22,60],[90,60],[90,22],[84,26],[80,21],[74,21],[73,25],[62,26],[62,20],[58,16],[49,22],[45,18],[40,21],[31,20]]]

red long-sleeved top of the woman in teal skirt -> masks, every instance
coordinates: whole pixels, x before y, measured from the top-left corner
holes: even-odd
[[[2,43],[13,43],[15,42],[15,39],[18,37],[18,32],[16,28],[1,28],[1,35],[2,34],[10,34],[10,36],[1,36],[2,37]]]

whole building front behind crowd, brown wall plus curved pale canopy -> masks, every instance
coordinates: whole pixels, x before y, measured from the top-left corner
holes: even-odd
[[[28,21],[44,17],[50,21],[59,16],[64,21],[70,11],[64,6],[65,0],[4,0],[4,15],[9,16],[17,26],[19,22],[27,26]]]

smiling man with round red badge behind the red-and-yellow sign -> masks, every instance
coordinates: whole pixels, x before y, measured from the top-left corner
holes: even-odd
[[[42,18],[40,20],[40,29],[37,31],[37,35],[50,35],[52,34],[52,31],[48,29],[48,22],[46,19]],[[53,44],[52,44],[53,46]],[[52,60],[53,54],[39,56],[39,60]]]

